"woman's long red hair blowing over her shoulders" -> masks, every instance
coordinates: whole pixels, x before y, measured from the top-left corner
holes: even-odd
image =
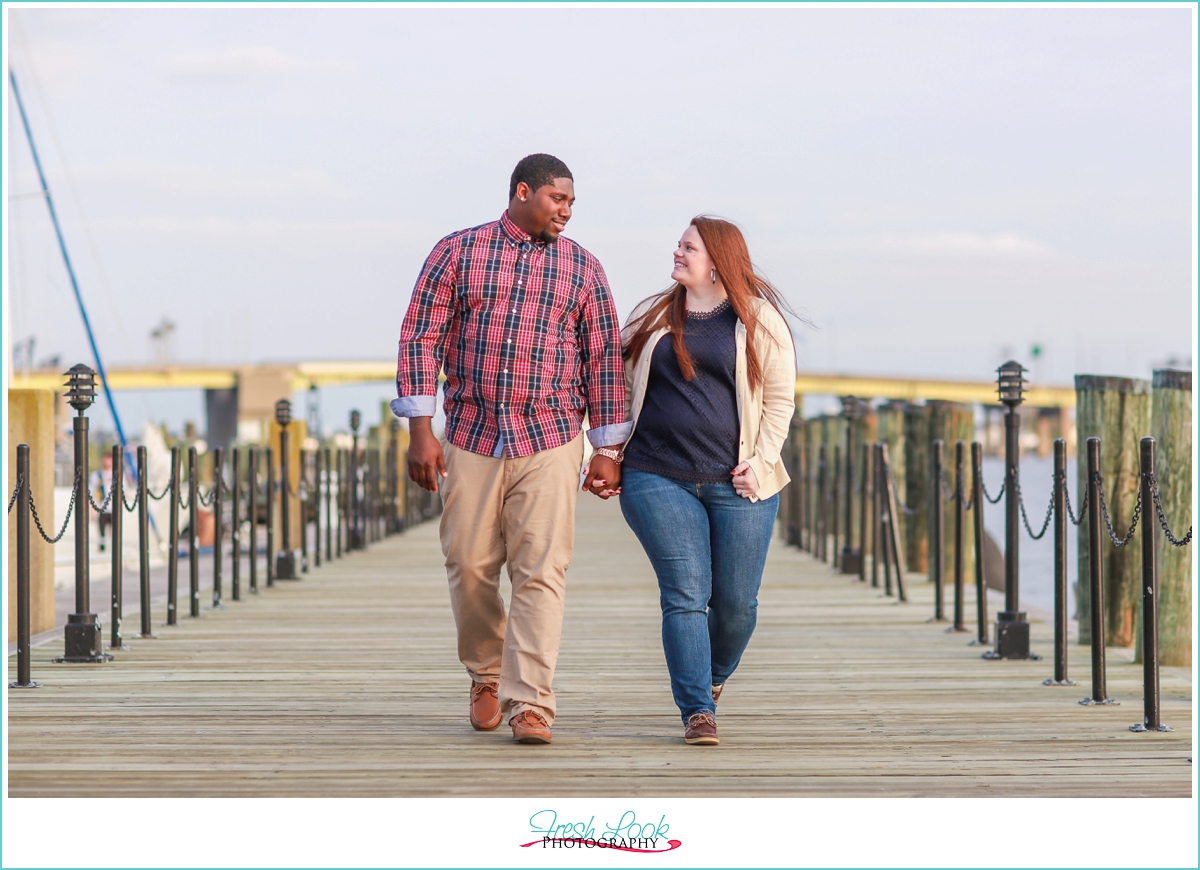
[[[787,302],[784,301],[779,290],[755,270],[746,240],[737,224],[719,217],[698,215],[691,218],[691,226],[700,233],[700,239],[704,242],[704,248],[708,251],[713,265],[716,266],[716,275],[725,284],[730,305],[746,328],[746,374],[750,379],[750,389],[755,390],[762,383],[762,365],[754,344],[754,336],[758,329],[758,317],[751,299],[755,296],[766,299],[779,312],[780,317],[784,316]],[[683,326],[688,319],[686,300],[688,289],[679,283],[650,296],[647,300],[649,306],[630,324],[632,334],[625,342],[624,356],[637,359],[646,348],[650,335],[666,326],[671,334],[671,346],[679,361],[679,370],[685,379],[691,380],[696,367],[683,343]]]

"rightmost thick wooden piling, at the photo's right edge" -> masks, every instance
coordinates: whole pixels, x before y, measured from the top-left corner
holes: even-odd
[[[1183,538],[1192,526],[1192,372],[1160,368],[1154,372],[1151,398],[1151,433],[1157,457],[1163,514],[1176,538]],[[1153,505],[1142,506],[1142,522],[1156,526],[1158,551],[1158,662],[1192,664],[1192,548],[1172,546],[1157,529]],[[1140,534],[1140,533],[1139,533]],[[1141,620],[1138,620],[1139,643]]]

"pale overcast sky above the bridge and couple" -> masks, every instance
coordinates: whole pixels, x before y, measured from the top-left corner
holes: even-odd
[[[1186,8],[46,8],[17,74],[106,361],[390,359],[532,151],[624,317],[737,221],[808,370],[1148,377],[1192,356]],[[89,354],[16,103],[13,342]],[[35,360],[36,361],[36,360]]]

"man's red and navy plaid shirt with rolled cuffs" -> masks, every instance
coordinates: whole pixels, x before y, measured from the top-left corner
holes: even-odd
[[[439,241],[400,332],[398,416],[432,416],[445,368],[446,439],[485,456],[629,437],[617,310],[600,263],[509,220]]]

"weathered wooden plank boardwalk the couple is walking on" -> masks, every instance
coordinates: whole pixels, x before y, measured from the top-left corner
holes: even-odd
[[[908,605],[781,545],[758,629],[722,697],[721,745],[688,746],[658,590],[616,502],[580,505],[550,746],[467,721],[437,524],[176,628],[108,665],[8,690],[10,796],[1189,796],[1190,672],[1134,734],[1141,668],[1111,650],[1117,707],[1046,688],[1049,661],[989,662]],[[968,611],[972,612],[972,611]],[[1049,656],[1051,629],[1033,626]],[[10,659],[10,679],[16,660]],[[83,774],[83,775],[80,775]]]

